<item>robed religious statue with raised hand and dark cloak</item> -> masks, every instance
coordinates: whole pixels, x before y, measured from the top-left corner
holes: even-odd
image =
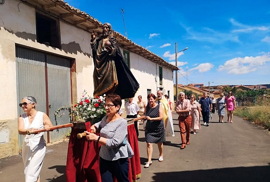
[[[95,38],[93,30],[90,44],[94,60],[94,96],[115,93],[122,99],[133,97],[139,83],[124,62],[110,23],[104,23],[102,35]]]

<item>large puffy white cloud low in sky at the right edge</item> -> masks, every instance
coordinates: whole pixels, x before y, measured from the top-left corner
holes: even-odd
[[[231,74],[245,74],[257,70],[259,66],[266,64],[267,61],[270,61],[269,54],[256,57],[236,57],[227,60],[224,65],[219,65],[217,70],[226,70],[227,73]]]

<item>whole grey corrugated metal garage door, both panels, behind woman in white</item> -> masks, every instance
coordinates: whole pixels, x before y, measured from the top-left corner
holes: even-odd
[[[71,104],[70,60],[17,46],[16,65],[18,103],[25,96],[34,96],[37,99],[37,110],[48,114],[46,108],[50,105],[49,117],[54,125],[70,122],[68,112],[56,120],[54,116],[56,109]],[[48,86],[48,100],[46,99],[46,85]],[[19,106],[18,113],[23,113]],[[63,139],[69,129],[50,132],[50,142]],[[19,146],[22,143],[23,136],[19,135]]]

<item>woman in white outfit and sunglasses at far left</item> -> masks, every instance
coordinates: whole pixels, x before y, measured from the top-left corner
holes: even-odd
[[[27,131],[34,132],[37,129],[49,130],[53,126],[50,118],[44,112],[36,110],[37,100],[33,96],[24,97],[20,107],[25,113],[18,119],[19,134],[24,135],[23,161],[25,164],[25,181],[40,181],[40,171],[43,164],[46,141],[44,132],[38,134],[27,134]]]

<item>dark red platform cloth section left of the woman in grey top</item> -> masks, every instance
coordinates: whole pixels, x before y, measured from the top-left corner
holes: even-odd
[[[67,182],[101,182],[99,147],[95,141],[77,138],[86,129],[72,128],[67,153]]]

